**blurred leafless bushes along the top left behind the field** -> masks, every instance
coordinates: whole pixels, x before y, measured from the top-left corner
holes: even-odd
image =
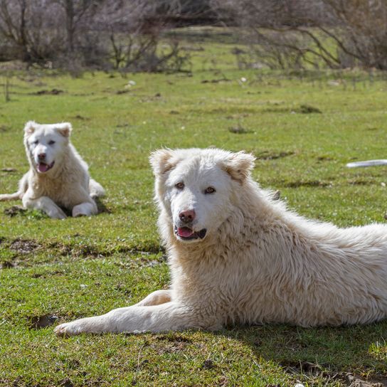
[[[179,71],[189,63],[166,40],[179,0],[0,0],[0,46],[6,59],[68,68]]]

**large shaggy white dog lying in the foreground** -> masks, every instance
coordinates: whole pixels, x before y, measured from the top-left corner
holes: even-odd
[[[154,152],[171,289],[56,334],[386,318],[387,226],[336,228],[297,216],[251,179],[253,161],[219,149]]]

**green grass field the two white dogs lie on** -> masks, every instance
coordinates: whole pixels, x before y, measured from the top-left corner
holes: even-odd
[[[237,70],[226,38],[186,46],[192,74],[4,73],[0,192],[16,191],[28,169],[23,124],[70,121],[107,197],[100,215],[64,221],[11,216],[20,203],[0,203],[0,386],[387,386],[387,322],[54,336],[58,322],[168,287],[148,163],[159,147],[245,149],[257,157],[254,179],[298,213],[339,226],[385,222],[386,169],[345,167],[387,157],[382,76]]]

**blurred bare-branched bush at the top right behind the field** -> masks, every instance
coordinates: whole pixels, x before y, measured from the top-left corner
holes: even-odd
[[[387,69],[386,0],[213,0],[269,67]]]

